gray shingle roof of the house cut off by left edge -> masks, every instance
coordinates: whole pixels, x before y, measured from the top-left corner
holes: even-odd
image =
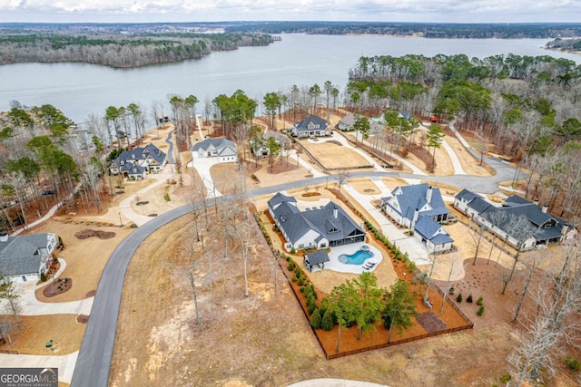
[[[41,264],[40,248],[46,248],[48,234],[8,237],[0,242],[0,275],[22,276],[38,274]]]

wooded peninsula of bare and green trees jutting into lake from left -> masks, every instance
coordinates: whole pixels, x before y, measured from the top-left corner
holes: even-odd
[[[0,34],[0,63],[82,62],[130,68],[272,42],[270,35],[261,33]]]

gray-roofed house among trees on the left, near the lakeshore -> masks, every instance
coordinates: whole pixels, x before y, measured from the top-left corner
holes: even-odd
[[[139,166],[140,171],[144,169],[145,172],[148,173],[158,173],[163,169],[165,163],[165,153],[155,145],[147,144],[143,148],[123,150],[123,152],[117,156],[117,159],[113,160],[113,163],[109,167],[109,171],[112,175],[118,175],[121,173],[123,176],[127,176],[131,179],[130,172],[133,172],[133,166]],[[143,174],[143,178],[144,176],[145,175]],[[133,177],[137,177],[137,172],[133,172]]]

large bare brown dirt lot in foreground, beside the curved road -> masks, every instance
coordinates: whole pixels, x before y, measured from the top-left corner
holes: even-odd
[[[161,381],[165,385],[284,386],[320,377],[389,386],[480,386],[507,372],[505,359],[514,339],[513,328],[506,323],[326,361],[278,269],[274,292],[273,261],[270,254],[259,253],[268,248],[262,241],[257,241],[257,254],[249,261],[250,297],[242,296],[239,260],[226,265],[222,257],[203,261],[198,283],[202,325],[194,324],[192,290],[178,274],[187,248],[179,247],[184,242],[178,230],[187,220],[153,234],[133,257],[113,353],[113,386]],[[207,248],[222,244],[212,237],[204,243]],[[163,258],[160,251],[166,252]],[[231,250],[231,257],[235,256]],[[224,269],[227,280],[218,280],[211,297],[204,278],[222,278]],[[487,305],[490,297],[484,297]]]

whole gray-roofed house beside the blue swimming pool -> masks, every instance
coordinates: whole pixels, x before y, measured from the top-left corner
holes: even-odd
[[[365,241],[363,228],[332,201],[319,208],[300,211],[295,198],[279,192],[268,201],[268,207],[274,223],[285,238],[287,251]]]

